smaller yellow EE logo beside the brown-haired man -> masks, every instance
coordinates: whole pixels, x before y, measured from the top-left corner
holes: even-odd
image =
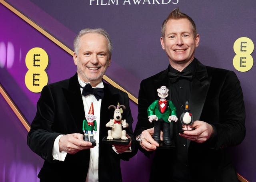
[[[234,52],[236,55],[233,59],[233,65],[237,71],[249,71],[253,65],[253,58],[251,56],[254,50],[252,40],[247,37],[238,38],[234,43]]]

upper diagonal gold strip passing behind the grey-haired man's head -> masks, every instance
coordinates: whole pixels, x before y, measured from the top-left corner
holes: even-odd
[[[41,34],[43,34],[44,36],[46,36],[48,39],[50,39],[52,42],[54,42],[55,44],[57,44],[59,47],[61,47],[62,49],[64,49],[66,52],[68,52],[70,55],[73,56],[73,51],[71,49],[69,49],[66,45],[62,44],[60,41],[58,41],[56,38],[54,38],[52,35],[50,35],[48,32],[46,32],[43,28],[41,28],[40,26],[38,26],[38,24],[34,23],[32,20],[30,20],[29,18],[27,18],[26,16],[24,16],[23,14],[21,14],[18,10],[16,10],[14,7],[10,6],[10,4],[8,4],[7,2],[5,2],[4,0],[0,0],[0,2],[6,6],[6,8],[8,8],[9,10],[11,10],[12,12],[14,12],[16,15],[18,15],[20,18],[22,18],[22,20],[24,20],[25,22],[27,22],[28,24],[30,24],[32,27],[34,27],[36,30],[38,30]],[[132,94],[130,94],[128,91],[126,91],[125,89],[123,89],[120,85],[118,85],[117,83],[115,83],[112,79],[110,79],[109,77],[107,77],[106,75],[103,75],[103,79],[106,80],[108,83],[110,83],[111,85],[113,85],[114,87],[126,92],[129,96],[129,98],[134,101],[134,103],[136,103],[138,105],[138,99],[136,97],[134,97]]]

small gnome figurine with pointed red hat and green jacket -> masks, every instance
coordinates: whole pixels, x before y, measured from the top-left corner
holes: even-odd
[[[96,143],[96,140],[93,138],[93,131],[94,133],[97,131],[97,123],[95,119],[96,116],[94,116],[93,103],[91,103],[88,115],[85,115],[85,119],[83,121],[84,141],[89,141],[88,131],[90,131],[90,142]]]

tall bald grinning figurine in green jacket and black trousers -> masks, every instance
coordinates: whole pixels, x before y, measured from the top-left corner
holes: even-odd
[[[176,107],[172,101],[166,100],[168,97],[169,89],[166,86],[157,89],[160,100],[155,100],[148,107],[148,121],[152,123],[154,121],[154,135],[153,138],[156,142],[160,143],[160,131],[163,129],[163,141],[166,145],[172,144],[172,131],[170,131],[170,125],[173,125],[172,121],[177,122]]]

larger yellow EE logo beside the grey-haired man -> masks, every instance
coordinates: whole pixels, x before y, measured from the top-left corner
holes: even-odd
[[[48,55],[44,49],[34,47],[30,49],[25,58],[28,71],[25,75],[27,88],[38,93],[48,83],[48,75],[44,71],[49,63]]]

